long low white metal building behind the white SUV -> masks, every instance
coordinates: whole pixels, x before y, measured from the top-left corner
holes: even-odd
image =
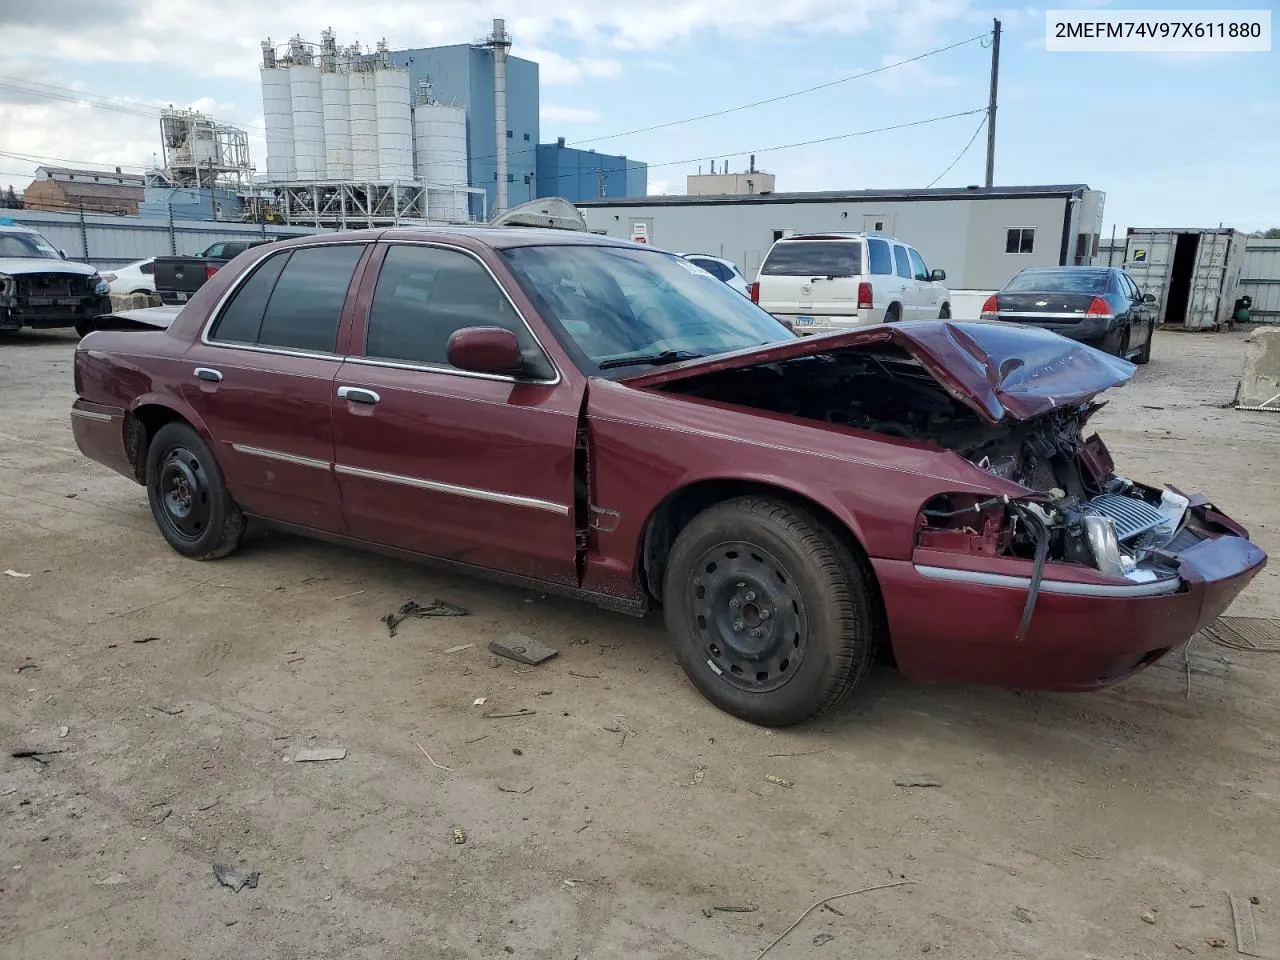
[[[1087,184],[669,196],[577,204],[588,227],[732,260],[754,279],[773,241],[877,230],[913,244],[952,289],[997,289],[1025,266],[1088,264],[1105,193]]]

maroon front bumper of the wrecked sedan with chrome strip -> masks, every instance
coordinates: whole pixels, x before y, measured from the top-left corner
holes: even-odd
[[[965,559],[974,558],[946,557],[951,564]],[[936,561],[932,550],[918,550],[913,561],[873,561],[904,675],[1092,690],[1189,640],[1226,609],[1267,557],[1244,536],[1216,536],[1179,553],[1176,582],[1165,585],[1106,584],[1079,575],[1074,564],[1050,563],[1023,640],[1014,636],[1029,588],[1028,562],[987,558],[963,570]]]

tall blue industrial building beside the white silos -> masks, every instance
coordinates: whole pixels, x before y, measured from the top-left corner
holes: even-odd
[[[467,179],[484,187],[489,211],[498,180],[497,131],[493,102],[493,50],[471,44],[397,50],[392,63],[408,68],[410,90],[430,81],[431,96],[467,111]],[[536,196],[538,64],[507,56],[507,202],[524,204]],[[474,210],[472,214],[479,214]]]

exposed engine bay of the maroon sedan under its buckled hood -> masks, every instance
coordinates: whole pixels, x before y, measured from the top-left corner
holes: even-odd
[[[1176,576],[1174,549],[1212,535],[1185,497],[1115,474],[1102,439],[1085,435],[1102,403],[992,424],[893,344],[709,372],[667,389],[941,447],[1034,494],[937,497],[922,509],[920,547],[1025,558],[1038,568],[1082,563],[1152,582]]]

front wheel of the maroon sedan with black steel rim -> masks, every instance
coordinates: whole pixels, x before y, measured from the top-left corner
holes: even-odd
[[[667,561],[667,631],[713,704],[768,727],[838,705],[876,650],[869,568],[826,524],[769,497],[699,513]]]

